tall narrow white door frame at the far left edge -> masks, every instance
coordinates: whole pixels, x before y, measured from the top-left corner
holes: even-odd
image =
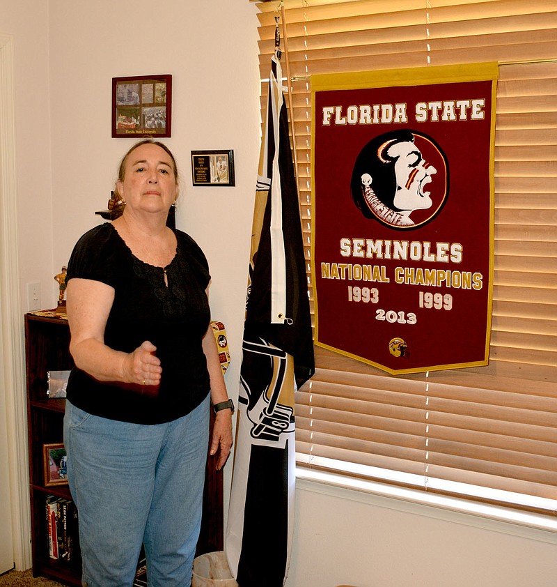
[[[15,568],[31,567],[31,514],[23,314],[15,181],[13,38],[0,34],[0,385],[6,395],[6,432]]]

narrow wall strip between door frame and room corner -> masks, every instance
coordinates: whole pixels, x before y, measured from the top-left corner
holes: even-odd
[[[52,273],[48,26],[47,2],[0,0],[0,32],[13,36],[14,45],[19,285],[24,311],[26,284],[50,286],[56,275]],[[51,293],[52,288],[47,289]]]

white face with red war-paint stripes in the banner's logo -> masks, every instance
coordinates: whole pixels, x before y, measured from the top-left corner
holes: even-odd
[[[430,192],[424,190],[437,169],[427,165],[414,143],[395,143],[387,151],[396,158],[396,192],[393,204],[399,210],[425,210],[432,206]]]

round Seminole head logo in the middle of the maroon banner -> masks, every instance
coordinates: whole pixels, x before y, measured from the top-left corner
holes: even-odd
[[[396,229],[414,229],[430,222],[446,201],[446,156],[420,132],[386,132],[360,151],[351,190],[366,218]]]

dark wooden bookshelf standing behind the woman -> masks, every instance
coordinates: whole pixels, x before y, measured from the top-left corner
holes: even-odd
[[[63,442],[65,399],[47,395],[47,372],[73,367],[68,350],[70,329],[64,314],[30,312],[25,315],[27,382],[27,425],[29,435],[29,491],[31,501],[31,540],[33,575],[61,583],[81,585],[79,544],[72,561],[49,557],[45,515],[47,495],[71,499],[67,485],[45,487],[43,445]],[[211,425],[214,420],[212,414]],[[203,521],[197,554],[223,549],[223,474],[207,461]]]

